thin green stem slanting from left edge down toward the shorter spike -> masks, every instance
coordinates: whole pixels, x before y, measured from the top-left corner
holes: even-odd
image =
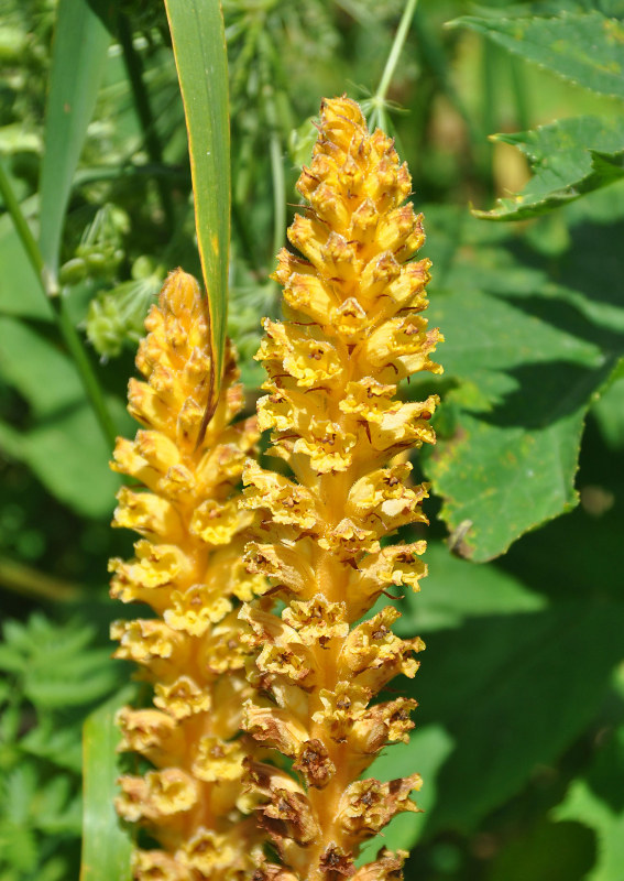
[[[69,356],[72,357],[78,371],[78,376],[83,382],[83,388],[87,393],[106,442],[110,446],[113,446],[117,432],[114,428],[114,423],[112,422],[108,412],[98,378],[94,371],[91,362],[89,361],[78,331],[67,315],[64,297],[53,295],[56,294],[56,291],[51,290],[50,282],[46,280],[45,267],[39,244],[36,243],[22,213],[20,204],[15,198],[15,194],[13,193],[13,188],[9,182],[9,177],[2,163],[0,163],[0,193],[2,194],[7,210],[11,215],[15,231],[20,237],[26,255],[40,281],[41,292],[45,296],[46,301],[52,305],[54,319],[61,336],[63,337],[65,346],[67,347],[67,351],[69,352]]]

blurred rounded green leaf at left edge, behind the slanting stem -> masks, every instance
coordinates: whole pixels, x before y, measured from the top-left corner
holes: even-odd
[[[4,317],[0,369],[33,415],[24,432],[0,425],[0,444],[76,511],[95,518],[110,514],[119,478],[108,467],[110,449],[67,357],[39,329]]]

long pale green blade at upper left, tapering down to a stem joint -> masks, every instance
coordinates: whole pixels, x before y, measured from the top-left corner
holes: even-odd
[[[40,248],[46,287],[56,289],[65,213],[72,182],[96,106],[110,34],[105,0],[59,0],[50,94],[45,115],[45,151],[41,167]]]

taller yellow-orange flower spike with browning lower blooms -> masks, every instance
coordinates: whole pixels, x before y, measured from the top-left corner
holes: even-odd
[[[266,698],[245,705],[244,727],[294,760],[298,780],[247,761],[250,800],[283,867],[254,878],[380,881],[401,877],[404,852],[382,849],[355,870],[363,841],[393,816],[418,808],[418,774],[381,783],[365,771],[387,743],[406,741],[416,701],[372,703],[396,674],[414,676],[419,639],[402,640],[393,607],[355,622],[386,589],[418,590],[425,542],[382,539],[427,522],[412,466],[398,454],[435,443],[438,398],[404,403],[397,383],[429,370],[441,340],[422,313],[429,261],[409,261],[424,242],[410,177],[393,142],[370,134],[357,104],[321,106],[310,168],[298,181],[309,206],[288,230],[303,254],[284,249],[274,278],[284,323],[264,322],[256,358],[269,373],[259,402],[272,453],[294,479],[250,461],[243,507],[261,512],[248,545],[250,573],[266,576],[285,602],[281,617],[243,606],[255,646],[254,683]]]

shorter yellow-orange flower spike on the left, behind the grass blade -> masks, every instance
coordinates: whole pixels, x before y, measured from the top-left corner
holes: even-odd
[[[144,428],[118,439],[112,464],[142,485],[120,491],[113,525],[142,537],[133,559],[109,568],[111,596],[155,613],[112,626],[116,655],[140,664],[154,686],[153,708],[119,714],[121,748],[153,770],[121,777],[117,809],[161,846],[135,851],[140,881],[238,881],[260,859],[255,820],[237,807],[244,741],[232,740],[251,695],[238,607],[264,585],[242,562],[253,514],[239,509],[236,490],[258,429],[255,418],[231,423],[242,389],[229,349],[220,403],[197,445],[210,348],[195,279],[173,272],[145,327],[136,366],[147,381],[129,389]]]

